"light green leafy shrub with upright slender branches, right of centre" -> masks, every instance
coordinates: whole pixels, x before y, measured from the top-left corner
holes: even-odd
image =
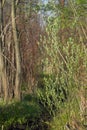
[[[44,72],[49,77],[42,78],[43,80],[40,81],[42,84],[39,82],[41,86],[37,93],[40,103],[46,111],[51,116],[55,116],[63,107],[63,102],[67,98],[73,98],[75,91],[86,85],[84,79],[87,75],[87,54],[86,48],[75,43],[71,37],[64,46],[58,42],[55,34],[52,38],[47,39],[48,43],[44,42],[46,38],[43,41],[45,54],[42,53],[45,56],[42,64],[44,64]],[[84,75],[84,79],[82,75]]]

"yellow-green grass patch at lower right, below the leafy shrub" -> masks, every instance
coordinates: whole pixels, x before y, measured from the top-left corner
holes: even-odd
[[[79,104],[76,98],[74,98],[71,103],[69,101],[67,103],[64,103],[61,112],[57,114],[56,117],[54,117],[53,120],[50,122],[50,130],[64,130],[66,124],[71,124],[74,117],[81,124],[79,114]]]

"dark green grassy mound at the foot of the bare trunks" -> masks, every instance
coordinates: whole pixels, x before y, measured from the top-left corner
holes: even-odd
[[[41,110],[35,99],[31,98],[31,96],[27,96],[22,102],[0,106],[0,129],[2,126],[4,126],[4,130],[7,130],[11,126],[16,127],[17,124],[36,122],[40,118]],[[33,127],[35,126],[33,125]]]

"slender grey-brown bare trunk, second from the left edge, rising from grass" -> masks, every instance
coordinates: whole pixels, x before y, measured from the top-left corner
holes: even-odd
[[[13,30],[13,38],[15,43],[15,56],[16,56],[16,77],[15,77],[15,88],[14,88],[14,96],[16,100],[20,100],[21,98],[21,60],[20,60],[20,49],[19,49],[19,40],[17,34],[16,27],[16,6],[15,0],[12,0],[12,30]]]

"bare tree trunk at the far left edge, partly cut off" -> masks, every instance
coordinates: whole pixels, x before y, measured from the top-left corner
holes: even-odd
[[[4,40],[4,26],[3,26],[3,0],[1,0],[0,3],[1,8],[1,27],[0,27],[0,82],[1,86],[3,87],[4,92],[4,101],[7,102],[8,100],[8,82],[7,82],[7,75],[6,75],[6,66],[5,66],[5,60],[3,58],[3,47],[5,46],[5,40]]]

